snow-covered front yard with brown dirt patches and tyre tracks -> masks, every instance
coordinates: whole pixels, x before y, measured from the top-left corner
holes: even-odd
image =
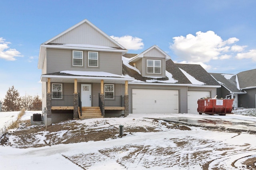
[[[2,117],[15,117],[15,113],[8,114],[11,116]],[[32,114],[26,112],[22,119],[30,119]],[[179,120],[185,124],[144,117]],[[125,118],[70,120],[47,129],[26,127],[23,123],[0,146],[1,170],[255,169],[254,133],[189,126],[186,120],[233,129],[256,127],[256,117],[242,114],[132,114]],[[1,120],[0,127],[6,122]],[[121,138],[119,125],[124,126]],[[60,130],[53,131],[54,127]],[[25,130],[33,133],[23,134]],[[81,135],[88,140],[76,142]],[[103,140],[89,139],[97,135]]]

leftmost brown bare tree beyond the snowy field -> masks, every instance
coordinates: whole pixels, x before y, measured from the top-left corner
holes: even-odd
[[[14,89],[14,86],[12,86],[12,88],[9,88],[6,93],[2,110],[3,111],[19,111],[20,110],[20,93],[18,92],[18,90]]]

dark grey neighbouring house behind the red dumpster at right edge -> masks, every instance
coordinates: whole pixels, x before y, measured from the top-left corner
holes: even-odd
[[[218,98],[234,99],[233,107],[256,107],[256,69],[238,74],[210,73],[221,85]]]

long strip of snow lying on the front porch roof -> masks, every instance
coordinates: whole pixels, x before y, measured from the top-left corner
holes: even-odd
[[[99,76],[99,77],[122,77],[122,78],[127,78],[127,76],[120,76],[117,74],[112,74],[109,72],[102,72],[102,71],[69,71],[69,70],[64,70],[61,71],[61,73],[66,73],[66,74],[73,74],[73,75],[78,75],[78,76]]]

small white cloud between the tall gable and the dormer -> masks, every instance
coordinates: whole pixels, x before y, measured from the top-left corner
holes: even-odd
[[[130,35],[125,35],[122,37],[115,37],[112,35],[110,37],[128,50],[139,50],[144,47],[142,39],[138,37],[132,37]]]

